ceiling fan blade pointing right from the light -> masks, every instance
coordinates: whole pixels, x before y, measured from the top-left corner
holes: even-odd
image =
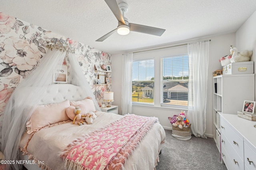
[[[130,26],[130,31],[140,32],[144,34],[151,34],[154,36],[162,36],[162,34],[165,32],[165,30],[161,28],[143,26],[139,24],[129,23],[129,26]]]

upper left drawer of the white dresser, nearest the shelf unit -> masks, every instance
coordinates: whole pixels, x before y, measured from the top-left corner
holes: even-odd
[[[243,138],[241,138],[231,127],[226,121],[222,119],[221,121],[221,135],[226,136],[226,141],[230,143],[232,146],[232,150],[235,150],[237,154],[240,156],[242,160],[244,160],[244,141]],[[222,140],[223,137],[222,137]],[[223,144],[223,142],[222,142]]]

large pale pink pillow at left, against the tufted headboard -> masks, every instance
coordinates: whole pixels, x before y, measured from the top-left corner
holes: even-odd
[[[26,123],[28,129],[27,133],[31,134],[47,125],[68,120],[69,117],[66,114],[66,109],[69,106],[69,100],[60,103],[34,106],[32,108],[34,111]]]

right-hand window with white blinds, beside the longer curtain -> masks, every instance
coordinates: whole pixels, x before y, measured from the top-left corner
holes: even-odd
[[[188,106],[188,55],[161,58],[161,105]]]

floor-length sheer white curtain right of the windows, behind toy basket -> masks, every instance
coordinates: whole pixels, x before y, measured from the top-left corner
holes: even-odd
[[[206,101],[210,40],[188,43],[188,120],[194,136],[206,138]]]

